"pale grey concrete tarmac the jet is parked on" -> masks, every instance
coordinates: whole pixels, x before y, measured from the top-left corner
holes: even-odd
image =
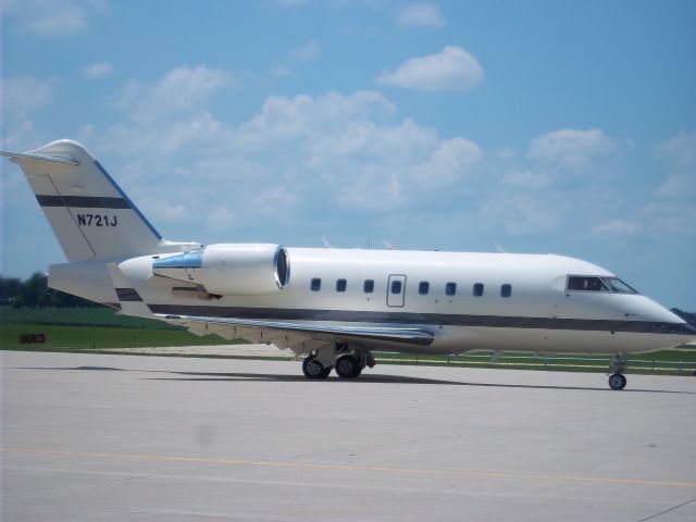
[[[1,361],[3,521],[696,520],[696,377]]]

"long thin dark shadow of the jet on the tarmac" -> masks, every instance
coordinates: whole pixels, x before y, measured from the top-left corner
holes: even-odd
[[[20,370],[20,369],[17,369]],[[439,378],[410,377],[406,375],[362,375],[360,378],[348,380],[330,377],[326,381],[309,381],[303,375],[286,375],[272,373],[243,373],[243,372],[172,372],[167,370],[136,370],[111,366],[73,366],[73,368],[24,368],[23,370],[65,370],[65,371],[98,371],[98,372],[138,372],[164,374],[162,376],[141,377],[147,381],[179,381],[179,382],[283,382],[283,383],[307,383],[319,384],[326,382],[340,382],[349,385],[360,384],[431,384],[446,386],[478,386],[492,388],[520,388],[520,389],[566,389],[586,391],[612,391],[614,390],[597,387],[588,388],[583,386],[550,386],[534,384],[499,384],[499,383],[467,383],[462,381],[447,381]],[[623,389],[622,393],[645,393],[645,394],[679,394],[696,395],[696,391],[670,390],[670,389]]]

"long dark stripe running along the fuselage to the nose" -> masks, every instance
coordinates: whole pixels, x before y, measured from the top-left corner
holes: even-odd
[[[524,318],[450,313],[369,312],[285,308],[199,307],[191,304],[148,304],[153,313],[276,321],[334,321],[408,325],[485,326],[490,328],[575,330],[586,332],[631,332],[641,334],[691,335],[696,330],[685,323],[612,321],[601,319]]]

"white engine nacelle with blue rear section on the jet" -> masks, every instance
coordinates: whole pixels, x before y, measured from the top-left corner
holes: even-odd
[[[278,245],[220,244],[152,262],[154,275],[200,285],[209,294],[254,295],[284,288],[290,259]]]

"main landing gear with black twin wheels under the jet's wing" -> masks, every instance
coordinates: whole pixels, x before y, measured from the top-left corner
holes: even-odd
[[[302,373],[307,378],[321,380],[328,377],[332,370],[341,378],[356,378],[365,366],[374,366],[375,361],[370,350],[350,348],[348,345],[336,344],[321,348],[302,361]]]

